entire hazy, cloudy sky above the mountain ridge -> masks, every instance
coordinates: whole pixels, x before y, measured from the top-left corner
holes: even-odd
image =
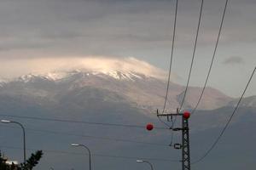
[[[179,83],[187,79],[200,3],[178,4],[173,71]],[[191,85],[201,86],[207,75],[224,3],[205,0]],[[227,8],[208,85],[231,96],[241,94],[256,65],[255,8],[255,0],[230,0]],[[96,55],[132,56],[167,70],[173,14],[174,0],[0,0],[0,77],[22,72],[27,59]],[[253,94],[256,78],[247,92]]]

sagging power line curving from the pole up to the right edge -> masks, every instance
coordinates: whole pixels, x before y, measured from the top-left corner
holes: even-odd
[[[221,131],[221,133],[219,134],[218,138],[217,138],[217,139],[215,140],[215,142],[212,144],[212,146],[210,147],[210,149],[207,150],[207,152],[206,152],[203,156],[201,156],[200,159],[198,159],[197,161],[192,162],[192,164],[195,164],[195,163],[198,163],[198,162],[202,161],[202,160],[203,160],[205,157],[207,157],[207,155],[212,151],[212,149],[216,146],[216,144],[218,144],[218,141],[219,141],[219,139],[223,136],[224,131],[225,131],[225,130],[227,129],[227,127],[230,125],[230,122],[231,122],[233,116],[235,115],[238,106],[239,106],[240,103],[241,103],[241,99],[243,98],[244,94],[246,93],[247,88],[248,88],[248,86],[249,86],[249,84],[250,84],[250,82],[251,82],[251,80],[252,80],[252,78],[253,78],[253,75],[254,75],[255,70],[256,70],[256,67],[254,68],[253,73],[252,73],[251,77],[249,78],[249,81],[247,82],[247,86],[246,86],[246,88],[244,89],[243,93],[241,94],[241,97],[240,97],[240,99],[238,100],[234,111],[232,112],[232,114],[231,114],[231,116],[230,116],[228,122],[226,122],[226,124],[225,124],[223,130]]]

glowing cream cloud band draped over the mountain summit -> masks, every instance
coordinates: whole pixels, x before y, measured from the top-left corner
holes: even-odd
[[[143,60],[133,57],[114,58],[87,56],[86,58],[41,58],[41,59],[1,59],[1,77],[20,77],[24,74],[44,74],[52,71],[135,71],[150,77],[164,78],[166,72]]]

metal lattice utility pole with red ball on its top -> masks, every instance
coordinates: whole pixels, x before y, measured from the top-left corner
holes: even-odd
[[[167,116],[167,119],[171,116],[182,116],[182,127],[170,127],[173,131],[182,131],[182,144],[173,144],[173,147],[177,150],[182,150],[182,169],[190,170],[190,150],[189,150],[189,116],[190,113],[185,111],[183,113],[179,113],[177,109],[177,113],[171,114],[159,114],[157,111],[157,116]]]

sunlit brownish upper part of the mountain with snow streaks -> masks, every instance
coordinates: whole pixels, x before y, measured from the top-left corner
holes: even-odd
[[[91,71],[76,69],[73,71],[53,71],[41,74],[27,74],[3,84],[0,94],[30,95],[58,100],[63,94],[83,91],[84,88],[108,90],[118,94],[133,106],[149,111],[160,109],[163,105],[166,82],[157,77],[131,70]],[[175,111],[181,102],[184,87],[170,84],[167,110]],[[190,88],[185,102],[187,109],[195,105],[196,94],[201,88]],[[200,109],[212,110],[222,107],[231,98],[216,89],[207,88]],[[76,94],[77,95],[77,94]],[[194,96],[194,97],[191,97]],[[85,99],[86,96],[83,97]],[[85,99],[86,100],[86,99]],[[219,102],[221,100],[221,102]],[[117,99],[116,102],[118,102]]]

